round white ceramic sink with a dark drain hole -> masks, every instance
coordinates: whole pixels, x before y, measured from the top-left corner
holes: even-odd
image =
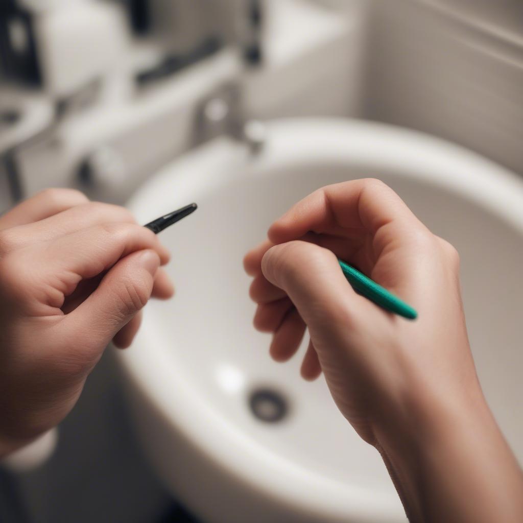
[[[367,176],[389,184],[458,248],[481,383],[523,461],[523,181],[412,131],[348,120],[269,122],[258,153],[217,139],[165,167],[129,203],[142,223],[199,205],[162,233],[173,252],[175,299],[146,307],[118,359],[145,453],[202,521],[405,521],[378,453],[338,413],[323,378],[303,381],[298,357],[269,358],[270,336],[252,326],[242,270],[244,253],[292,203]]]

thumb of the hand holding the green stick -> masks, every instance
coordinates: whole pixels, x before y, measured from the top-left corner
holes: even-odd
[[[326,326],[346,329],[369,308],[345,279],[334,253],[318,245],[303,241],[275,245],[261,260],[261,271],[288,294],[311,334],[317,329],[320,334]]]

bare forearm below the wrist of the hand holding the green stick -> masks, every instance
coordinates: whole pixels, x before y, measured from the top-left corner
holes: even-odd
[[[523,473],[483,400],[433,404],[377,437],[411,521],[523,521]]]

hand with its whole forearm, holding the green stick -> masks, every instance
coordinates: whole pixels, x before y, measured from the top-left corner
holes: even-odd
[[[516,521],[521,503],[507,509],[490,480],[469,477],[470,462],[459,472],[461,446],[468,455],[469,439],[479,437],[477,450],[490,448],[505,467],[502,483],[508,477],[510,488],[523,492],[476,377],[456,249],[378,180],[317,190],[272,224],[268,238],[244,259],[254,277],[255,326],[274,333],[270,354],[278,361],[294,355],[308,327],[302,376],[323,371],[339,410],[382,454],[410,518],[488,521],[495,513]],[[414,306],[418,319],[395,316],[356,294],[337,257]],[[453,488],[460,492],[463,484],[472,499],[475,492],[491,501],[490,510],[470,499],[459,505]],[[427,485],[432,490],[424,491]]]

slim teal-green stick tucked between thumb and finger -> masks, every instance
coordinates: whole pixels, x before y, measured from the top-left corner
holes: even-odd
[[[373,301],[383,309],[393,312],[409,320],[415,320],[418,313],[403,300],[389,292],[376,281],[371,280],[365,274],[355,269],[343,260],[338,258],[339,266],[343,270],[343,274],[353,289],[359,292],[365,298]]]

